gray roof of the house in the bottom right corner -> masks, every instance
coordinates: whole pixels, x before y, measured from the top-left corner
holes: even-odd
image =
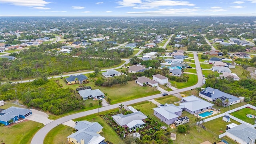
[[[226,130],[226,132],[242,139],[246,143],[249,143],[250,141],[254,142],[256,139],[256,129],[246,124],[240,124],[234,128]]]

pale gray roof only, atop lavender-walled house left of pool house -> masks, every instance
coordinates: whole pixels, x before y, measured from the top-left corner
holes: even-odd
[[[179,116],[174,113],[182,111],[181,108],[175,106],[174,104],[170,104],[169,106],[164,105],[159,108],[153,108],[153,110],[164,116],[167,120],[178,118]]]

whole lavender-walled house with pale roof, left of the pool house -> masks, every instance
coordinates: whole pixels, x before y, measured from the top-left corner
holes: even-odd
[[[178,117],[182,114],[182,109],[174,104],[165,104],[164,106],[158,106],[158,108],[153,108],[154,115],[158,117],[161,122],[166,124],[172,124]]]

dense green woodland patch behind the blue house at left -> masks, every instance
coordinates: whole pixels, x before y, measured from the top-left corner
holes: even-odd
[[[42,78],[19,84],[6,83],[0,86],[0,99],[19,99],[28,107],[40,108],[56,115],[85,108],[79,94],[61,87],[54,80]]]

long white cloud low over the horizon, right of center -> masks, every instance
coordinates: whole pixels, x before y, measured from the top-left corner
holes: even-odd
[[[146,12],[126,12],[126,14],[147,14],[147,15],[184,15],[186,13],[187,15],[195,15],[197,11],[200,11],[200,9],[196,8],[180,8],[180,9],[160,9],[155,11],[146,11]]]

